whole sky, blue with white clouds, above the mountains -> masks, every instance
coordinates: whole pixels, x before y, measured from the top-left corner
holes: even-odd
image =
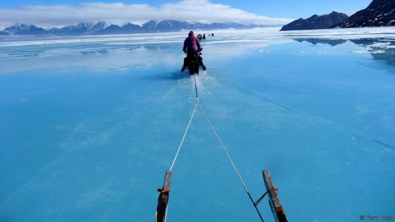
[[[370,3],[371,0],[2,0],[0,24],[26,23],[48,28],[98,21],[142,25],[150,20],[170,19],[273,25],[332,11],[351,15]]]

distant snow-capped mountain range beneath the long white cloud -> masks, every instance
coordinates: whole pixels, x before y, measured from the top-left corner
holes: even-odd
[[[142,26],[129,22],[112,24],[109,22],[80,23],[62,28],[43,29],[34,25],[16,24],[0,31],[0,35],[54,35],[54,36],[75,36],[75,35],[110,35],[110,34],[136,34],[136,33],[157,33],[157,32],[177,32],[181,30],[216,30],[216,29],[251,29],[255,27],[269,27],[268,25],[244,25],[239,23],[188,23],[185,21],[163,20],[149,21]]]

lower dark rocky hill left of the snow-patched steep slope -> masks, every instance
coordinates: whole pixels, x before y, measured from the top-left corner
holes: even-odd
[[[326,15],[313,15],[306,19],[299,18],[283,26],[280,31],[329,29],[331,26],[341,23],[347,18],[348,16],[346,14],[339,12],[332,12]]]

